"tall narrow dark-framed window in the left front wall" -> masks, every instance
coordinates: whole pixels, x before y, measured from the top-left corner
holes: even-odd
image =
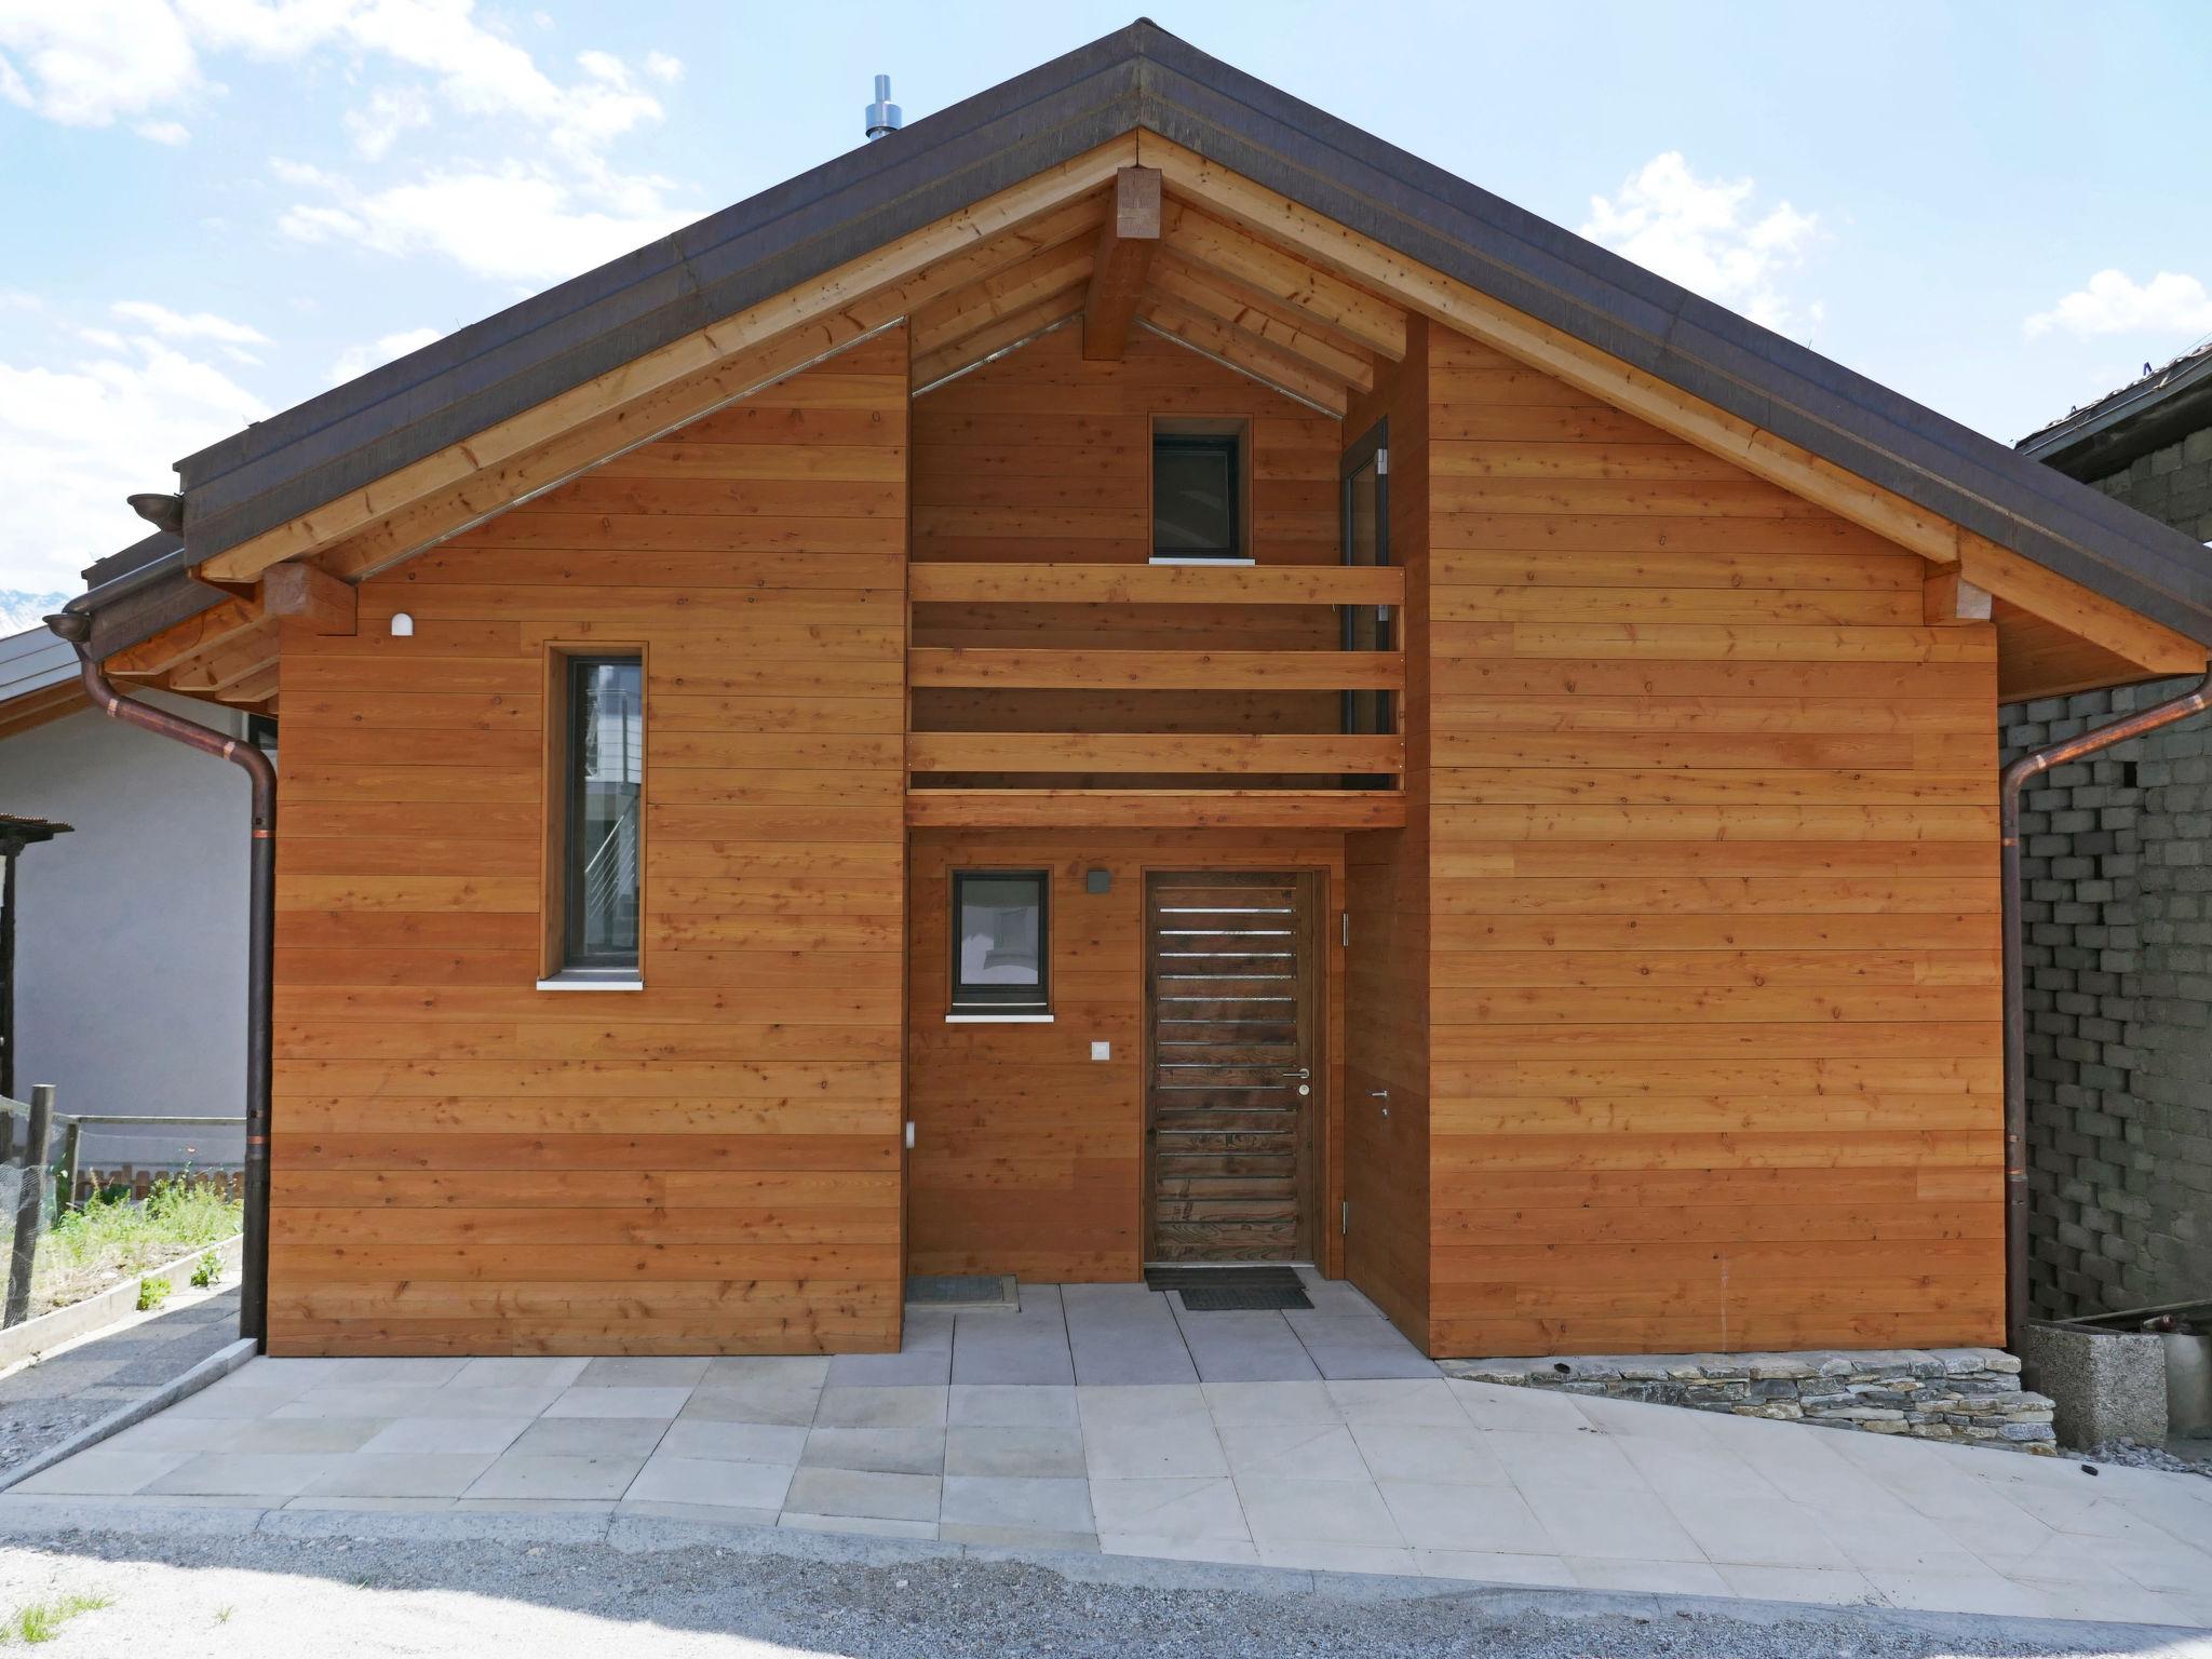
[[[566,927],[568,969],[637,971],[639,785],[646,774],[644,664],[568,657]]]

